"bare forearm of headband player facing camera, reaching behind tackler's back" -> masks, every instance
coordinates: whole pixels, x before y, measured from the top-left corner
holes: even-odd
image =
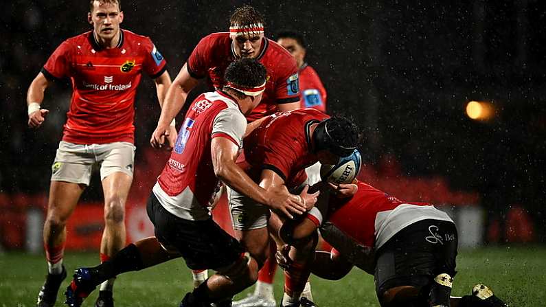
[[[170,123],[180,112],[185,104],[187,94],[198,84],[198,80],[190,76],[187,71],[187,63],[180,70],[177,78],[174,78],[170,87],[168,87],[163,105],[161,106],[161,115],[157,122],[157,128],[152,133],[150,144],[154,148],[160,148],[166,144],[168,148],[174,146],[174,141],[170,139]]]

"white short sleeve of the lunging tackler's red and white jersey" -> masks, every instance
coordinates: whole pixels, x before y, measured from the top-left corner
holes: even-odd
[[[223,109],[212,123],[212,137],[225,137],[242,148],[242,137],[247,129],[247,119],[235,108]]]

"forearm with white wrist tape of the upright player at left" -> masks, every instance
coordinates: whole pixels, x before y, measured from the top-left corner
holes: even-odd
[[[38,128],[45,120],[45,115],[49,113],[47,109],[40,109],[40,104],[43,102],[44,92],[51,82],[45,78],[42,72],[32,80],[27,91],[27,107],[28,107],[28,126],[30,128]]]

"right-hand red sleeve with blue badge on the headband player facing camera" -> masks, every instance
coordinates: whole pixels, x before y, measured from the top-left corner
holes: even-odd
[[[296,60],[290,56],[279,68],[280,76],[276,82],[275,102],[288,104],[299,101],[299,76]]]

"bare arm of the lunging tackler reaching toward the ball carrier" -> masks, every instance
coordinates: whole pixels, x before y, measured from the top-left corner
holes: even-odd
[[[306,207],[300,196],[288,193],[288,190],[266,190],[252,179],[236,164],[238,146],[227,137],[213,137],[211,143],[212,166],[216,177],[232,189],[249,196],[254,201],[275,207],[287,216],[302,214]],[[307,196],[306,194],[302,196]],[[313,198],[315,196],[312,196]],[[312,199],[306,201],[312,202]]]

